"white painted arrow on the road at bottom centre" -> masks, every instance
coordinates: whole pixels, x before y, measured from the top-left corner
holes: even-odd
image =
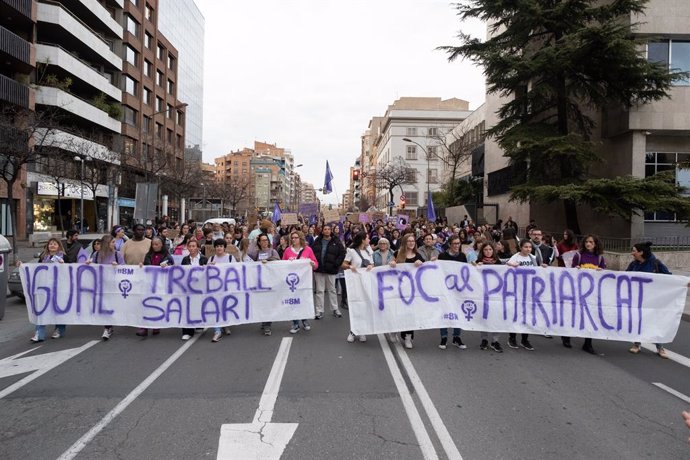
[[[221,425],[216,456],[218,460],[277,460],[283,455],[299,424],[271,423],[271,419],[291,345],[291,337],[281,340],[278,355],[273,361],[273,367],[259,400],[259,408],[252,422]]]

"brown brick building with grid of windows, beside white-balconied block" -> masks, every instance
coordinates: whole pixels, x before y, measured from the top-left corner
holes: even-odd
[[[177,48],[159,30],[158,0],[128,0],[122,24],[122,135],[127,180],[119,200],[128,221],[137,182],[162,185],[185,168],[186,107],[178,98],[180,59]],[[168,212],[178,219],[181,203]]]

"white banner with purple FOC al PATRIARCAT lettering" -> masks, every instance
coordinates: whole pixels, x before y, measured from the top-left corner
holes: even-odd
[[[458,327],[669,343],[688,278],[448,261],[345,270],[350,329],[376,334]]]

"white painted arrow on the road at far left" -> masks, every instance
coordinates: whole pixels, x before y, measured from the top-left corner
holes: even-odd
[[[50,353],[44,353],[42,355],[28,356],[26,358],[19,358],[27,353],[40,348],[40,346],[32,348],[30,350],[18,353],[9,358],[5,358],[0,361],[0,377],[8,377],[16,374],[23,374],[25,372],[33,372],[31,375],[27,375],[18,382],[13,383],[7,388],[0,391],[0,399],[8,396],[29,382],[32,382],[45,374],[46,372],[55,369],[60,364],[64,363],[70,358],[78,355],[82,351],[85,351],[92,346],[99,343],[99,340],[92,340],[79,348],[70,348],[68,350],[54,351]]]

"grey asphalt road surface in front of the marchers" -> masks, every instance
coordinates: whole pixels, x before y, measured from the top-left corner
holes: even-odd
[[[10,298],[0,321],[0,456],[59,458],[97,426],[75,458],[216,458],[221,425],[252,422],[281,341],[292,337],[271,419],[298,424],[284,459],[690,458],[680,417],[690,409],[690,362],[632,355],[621,342],[595,341],[601,355],[591,356],[580,339],[568,350],[543,337],[534,352],[497,354],[479,350],[477,333],[463,333],[467,350],[439,350],[437,331],[417,333],[409,351],[389,337],[349,344],[347,312],[313,326],[291,336],[288,323],[275,324],[271,337],[240,326],[219,343],[207,331],[189,345],[177,330],[142,339],[132,328],[90,344],[99,327],[70,326],[37,347],[23,303]],[[87,345],[64,362],[55,353]],[[681,321],[668,349],[690,357],[690,323]],[[7,358],[29,350],[17,369],[46,355],[39,370],[9,375]]]

